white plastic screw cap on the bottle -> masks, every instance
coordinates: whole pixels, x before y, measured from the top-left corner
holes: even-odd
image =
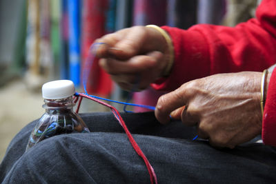
[[[69,80],[51,81],[42,85],[43,99],[64,99],[73,94],[75,86]]]

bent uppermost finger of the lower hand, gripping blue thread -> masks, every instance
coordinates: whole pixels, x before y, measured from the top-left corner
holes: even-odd
[[[186,87],[182,85],[177,90],[164,94],[157,101],[155,116],[160,123],[168,123],[170,121],[170,112],[186,105],[189,96],[186,95]]]

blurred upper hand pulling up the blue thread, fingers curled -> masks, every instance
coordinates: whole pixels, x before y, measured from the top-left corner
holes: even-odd
[[[162,76],[168,45],[154,28],[135,26],[107,34],[95,43],[99,65],[124,90],[143,90]],[[133,89],[135,87],[135,89]]]

